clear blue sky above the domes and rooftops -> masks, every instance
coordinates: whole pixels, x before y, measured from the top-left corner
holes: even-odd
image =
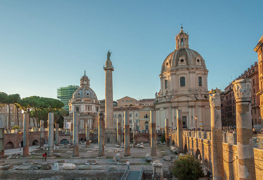
[[[208,73],[208,89],[257,61],[262,1],[0,1],[0,91],[56,98],[84,74],[105,98],[103,64],[113,51],[113,98],[154,98],[183,23]],[[212,86],[213,85],[213,86]]]

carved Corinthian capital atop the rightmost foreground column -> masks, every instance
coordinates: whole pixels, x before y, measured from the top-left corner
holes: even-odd
[[[251,98],[251,79],[232,81],[236,102],[249,101]]]

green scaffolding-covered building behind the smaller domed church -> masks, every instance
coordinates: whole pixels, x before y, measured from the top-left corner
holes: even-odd
[[[73,93],[79,88],[77,85],[68,85],[57,88],[57,98],[64,103],[63,109],[69,111],[69,100]]]

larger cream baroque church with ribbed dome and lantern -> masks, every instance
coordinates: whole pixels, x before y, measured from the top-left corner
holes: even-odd
[[[183,27],[176,36],[176,49],[162,63],[161,89],[155,94],[156,129],[177,126],[177,110],[182,110],[183,125],[195,128],[195,116],[203,122],[201,129],[210,130],[210,103],[207,90],[205,60],[195,50],[189,49],[188,32]],[[173,125],[172,125],[173,123]]]

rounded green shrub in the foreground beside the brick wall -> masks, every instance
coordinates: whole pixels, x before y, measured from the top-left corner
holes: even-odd
[[[203,175],[199,160],[195,160],[191,154],[179,156],[174,161],[172,174],[179,180],[195,180]]]

